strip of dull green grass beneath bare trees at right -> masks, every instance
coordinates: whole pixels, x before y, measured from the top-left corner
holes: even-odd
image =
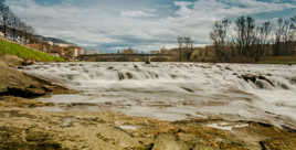
[[[258,63],[260,64],[296,64],[296,55],[262,57],[262,60]]]

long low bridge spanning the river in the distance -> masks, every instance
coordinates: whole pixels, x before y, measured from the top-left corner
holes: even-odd
[[[78,56],[86,62],[167,62],[173,57],[171,54],[91,54]]]

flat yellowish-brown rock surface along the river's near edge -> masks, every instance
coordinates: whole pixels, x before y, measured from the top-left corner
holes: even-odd
[[[260,122],[159,121],[115,113],[49,113],[0,99],[0,150],[294,150],[296,133]],[[221,126],[213,126],[221,125]]]

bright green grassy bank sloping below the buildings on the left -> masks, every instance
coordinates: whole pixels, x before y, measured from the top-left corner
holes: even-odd
[[[50,54],[28,49],[20,44],[0,40],[0,55],[17,55],[23,60],[32,60],[38,62],[64,62],[63,58],[52,56]]]

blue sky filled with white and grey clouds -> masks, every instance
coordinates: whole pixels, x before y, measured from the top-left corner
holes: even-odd
[[[210,44],[213,23],[252,15],[257,21],[296,15],[296,0],[7,0],[36,34],[116,52],[177,46],[190,36]]]

